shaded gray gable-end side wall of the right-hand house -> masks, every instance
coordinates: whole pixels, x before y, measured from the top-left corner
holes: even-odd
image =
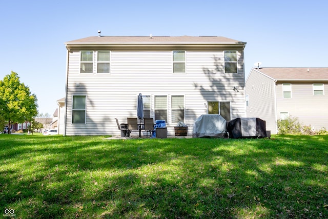
[[[267,130],[277,133],[274,79],[252,70],[245,83],[245,94],[249,95],[247,117],[258,117],[265,121]]]

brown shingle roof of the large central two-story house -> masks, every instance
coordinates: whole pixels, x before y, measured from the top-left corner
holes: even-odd
[[[90,36],[65,43],[71,46],[238,45],[245,42],[222,36]]]

